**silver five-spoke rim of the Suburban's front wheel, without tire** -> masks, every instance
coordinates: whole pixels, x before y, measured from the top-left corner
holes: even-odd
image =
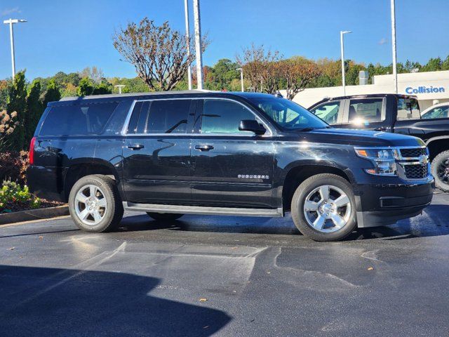
[[[351,199],[333,185],[316,187],[305,199],[304,216],[314,230],[335,232],[350,220]]]

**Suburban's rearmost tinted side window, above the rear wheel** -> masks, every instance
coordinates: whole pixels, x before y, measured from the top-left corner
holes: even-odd
[[[92,103],[51,107],[40,136],[86,136],[102,133],[119,103]]]

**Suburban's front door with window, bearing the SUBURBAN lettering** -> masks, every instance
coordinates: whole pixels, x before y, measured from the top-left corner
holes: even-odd
[[[274,142],[270,131],[264,136],[239,131],[241,120],[257,118],[249,107],[234,100],[201,100],[196,111],[193,202],[201,206],[271,208]]]

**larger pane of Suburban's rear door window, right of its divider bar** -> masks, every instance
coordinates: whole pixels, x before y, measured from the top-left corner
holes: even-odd
[[[192,100],[154,100],[149,107],[145,133],[186,133]]]

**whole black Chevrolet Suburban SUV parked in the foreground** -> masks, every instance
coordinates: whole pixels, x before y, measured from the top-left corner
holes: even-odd
[[[275,95],[187,91],[49,103],[28,182],[82,230],[123,210],[284,216],[317,241],[420,214],[434,178],[419,138],[332,128]]]

